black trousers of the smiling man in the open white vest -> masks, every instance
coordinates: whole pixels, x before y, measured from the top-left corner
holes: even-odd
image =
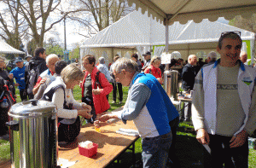
[[[248,167],[248,140],[241,147],[230,148],[232,136],[209,136],[212,168],[223,168],[223,164],[225,168]]]

